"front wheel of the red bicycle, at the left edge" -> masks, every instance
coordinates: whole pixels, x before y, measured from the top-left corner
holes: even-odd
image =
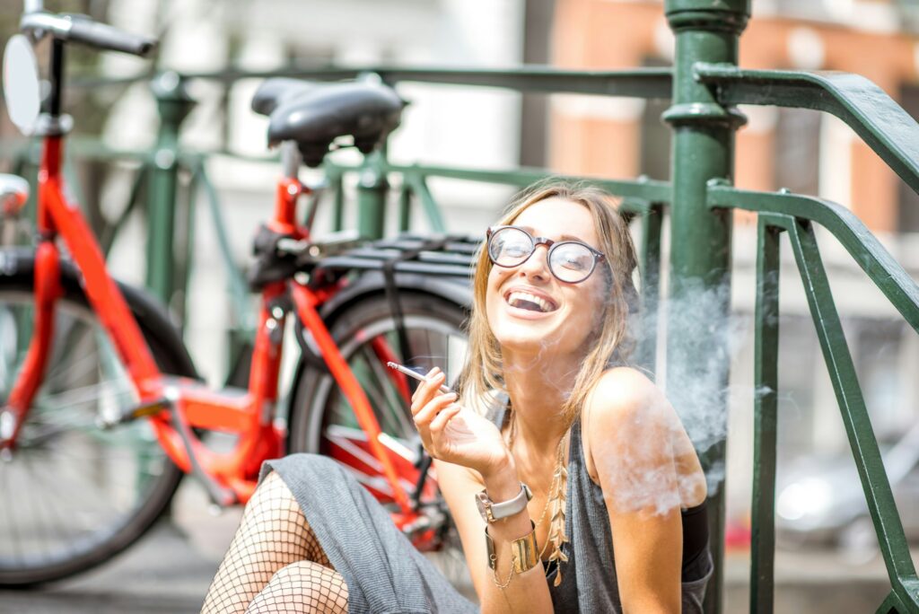
[[[9,262],[19,267],[0,267],[0,405],[25,358],[34,313],[30,258]],[[44,381],[16,448],[0,458],[0,586],[58,580],[107,561],[151,527],[181,477],[147,421],[96,427],[98,417],[136,399],[67,270]],[[130,289],[125,297],[160,368],[193,377],[151,301]]]

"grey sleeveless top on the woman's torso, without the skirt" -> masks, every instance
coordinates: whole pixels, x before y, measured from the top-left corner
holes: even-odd
[[[505,423],[505,407],[489,412],[499,427]],[[613,563],[613,537],[609,529],[603,490],[590,479],[581,442],[581,420],[572,425],[568,459],[568,489],[565,501],[565,532],[569,542],[562,545],[568,557],[562,564],[562,584],[553,586],[558,570],[546,574],[552,606],[557,614],[568,612],[621,612],[616,566]],[[702,599],[713,565],[708,547],[683,571],[683,612],[701,614]]]

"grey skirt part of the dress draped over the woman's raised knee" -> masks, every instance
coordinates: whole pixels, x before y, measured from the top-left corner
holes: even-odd
[[[292,454],[268,460],[261,477],[271,470],[297,498],[329,562],[344,576],[349,612],[478,611],[414,549],[389,513],[335,460]]]

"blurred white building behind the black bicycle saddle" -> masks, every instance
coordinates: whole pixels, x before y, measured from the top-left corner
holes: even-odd
[[[252,3],[221,0],[110,0],[108,21],[130,31],[161,36],[158,68],[185,74],[229,68],[271,71],[290,65],[379,66],[422,65],[489,67],[522,62],[523,0],[268,0]],[[108,54],[107,74],[138,74],[142,62]],[[208,174],[218,188],[233,250],[247,263],[253,233],[270,215],[277,162],[266,157],[267,118],[255,115],[250,102],[261,79],[225,85],[193,79],[188,92],[195,106],[183,123],[183,146],[217,152]],[[401,128],[390,142],[394,162],[507,168],[517,164],[520,97],[516,93],[447,85],[403,84],[409,101]],[[104,132],[113,146],[151,146],[158,118],[149,85],[131,86],[119,97]],[[241,159],[238,155],[246,156]],[[338,155],[338,154],[336,154]],[[341,157],[344,155],[344,158]],[[342,152],[340,162],[357,162]],[[309,177],[309,171],[302,176]],[[432,181],[454,232],[480,233],[494,219],[510,190],[494,186]],[[120,188],[125,193],[127,185]],[[118,191],[118,190],[115,190]],[[352,199],[353,200],[353,199]],[[346,210],[346,227],[356,211]],[[186,337],[196,363],[211,381],[221,381],[226,368],[222,335],[229,313],[224,306],[196,309],[227,288],[216,236],[205,207],[196,222],[195,265]],[[321,210],[317,227],[329,227],[330,211]],[[395,229],[395,215],[389,220]],[[419,221],[424,229],[424,222]],[[140,233],[141,229],[138,228]],[[116,245],[113,261],[122,278],[142,281],[138,235]],[[295,358],[295,357],[294,357]]]

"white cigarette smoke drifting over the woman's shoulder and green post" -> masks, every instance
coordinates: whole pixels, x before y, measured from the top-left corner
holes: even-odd
[[[740,395],[749,403],[755,394],[770,392],[729,384],[729,368],[743,346],[747,322],[733,314],[720,317],[728,305],[727,284],[708,288],[696,279],[632,319],[639,335],[655,330],[669,334],[663,337],[668,356],[658,358],[655,380],[675,412],[665,403],[648,405],[642,415],[631,416],[618,433],[609,435],[601,454],[608,473],[615,476],[612,503],[620,509],[665,514],[698,502],[696,452],[704,462],[707,452],[725,441],[732,398]],[[713,495],[724,481],[724,462],[707,465],[705,482]]]

